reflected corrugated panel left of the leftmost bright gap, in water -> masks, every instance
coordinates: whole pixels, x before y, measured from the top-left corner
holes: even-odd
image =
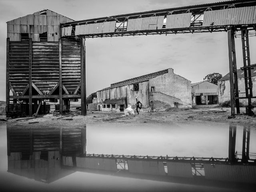
[[[117,171],[116,160],[108,158],[76,157],[76,166],[88,169]]]

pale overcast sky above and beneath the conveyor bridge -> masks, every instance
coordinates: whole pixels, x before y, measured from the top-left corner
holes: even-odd
[[[0,0],[0,100],[5,99],[6,22],[49,9],[74,20],[173,8],[220,0]],[[110,84],[173,68],[192,83],[210,73],[228,73],[226,32],[86,39],[87,95]],[[256,39],[250,39],[256,63]],[[241,38],[236,38],[237,66],[242,66]]]

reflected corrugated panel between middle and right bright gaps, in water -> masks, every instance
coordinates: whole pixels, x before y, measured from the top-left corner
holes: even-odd
[[[190,163],[167,162],[168,176],[192,178],[192,166]]]

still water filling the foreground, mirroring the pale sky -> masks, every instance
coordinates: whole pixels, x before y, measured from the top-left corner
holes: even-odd
[[[48,130],[44,127],[30,130],[28,127],[20,129],[19,126],[14,125],[7,127],[6,129],[6,125],[0,125],[0,177],[3,191],[253,191],[251,188],[255,189],[253,184],[256,180],[254,183],[252,180],[244,184],[216,183],[211,180],[206,181],[204,174],[187,178],[181,178],[182,175],[179,175],[177,179],[169,175],[170,169],[166,168],[168,167],[166,160],[163,160],[164,163],[159,162],[158,167],[162,163],[164,175],[158,176],[129,173],[132,170],[132,164],[129,170],[120,170],[120,166],[124,166],[121,163],[116,171],[119,174],[113,171],[77,169],[84,166],[82,160],[85,159],[85,153],[228,158],[229,124],[193,122],[138,126],[102,124],[73,128],[73,130],[63,128],[61,132],[59,129]],[[236,158],[239,159],[242,158],[243,135],[244,127],[236,126],[235,151]],[[62,140],[61,146],[60,140]],[[256,128],[254,127],[250,127],[249,144],[250,165],[254,166],[250,166],[250,172],[247,170],[248,166],[239,168],[247,170],[245,174],[255,176],[255,169],[252,170],[255,168],[253,160],[256,159]],[[116,158],[114,161],[120,159]],[[100,165],[99,158],[90,158],[90,160],[97,161],[96,165],[91,162],[94,163],[94,168]],[[153,162],[141,159],[136,161],[137,167],[138,162]],[[171,162],[169,165],[175,163]],[[191,163],[184,165],[188,164]],[[216,170],[217,164],[208,165],[215,166]],[[207,167],[207,165],[204,166]],[[127,167],[128,161],[126,161],[126,169]],[[182,171],[179,170],[179,172]],[[191,168],[190,172],[192,172]],[[160,173],[159,170],[157,173]],[[195,179],[196,182],[194,182]]]

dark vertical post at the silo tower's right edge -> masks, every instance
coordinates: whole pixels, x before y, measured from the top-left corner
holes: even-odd
[[[86,115],[86,68],[85,68],[85,39],[80,39],[81,57],[81,114]]]

